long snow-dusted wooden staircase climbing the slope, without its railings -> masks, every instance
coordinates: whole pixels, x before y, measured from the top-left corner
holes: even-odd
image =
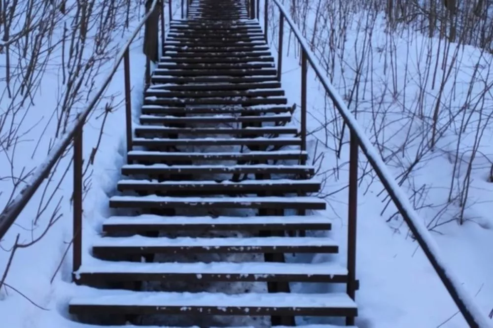
[[[295,316],[355,317],[345,293],[290,293],[293,282],[346,283],[347,269],[285,262],[284,254],[339,248],[305,236],[331,221],[309,215],[326,203],[306,196],[320,181],[298,130],[286,125],[294,106],[258,21],[247,19],[244,0],[194,1],[188,17],[171,22],[135,127],[141,150],[128,153],[121,195],[109,201],[115,211],[139,212],[104,222],[94,258],[84,257],[76,273],[79,284],[101,291],[71,299],[70,313],[271,316],[273,326],[294,325]],[[154,262],[158,254],[226,253],[265,261]],[[145,281],[266,282],[268,292],[143,291]],[[119,289],[107,287],[114,283]]]

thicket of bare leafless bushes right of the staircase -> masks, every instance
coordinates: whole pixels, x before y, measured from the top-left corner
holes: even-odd
[[[429,229],[451,217],[465,220],[464,210],[474,201],[469,193],[475,163],[478,157],[493,160],[480,151],[492,120],[492,3],[284,1],[384,161],[400,172],[399,184],[428,218]],[[272,24],[270,30],[276,31],[277,22]],[[292,51],[294,38],[287,42]],[[298,56],[299,49],[294,54]],[[335,151],[336,170],[347,165],[339,158],[348,133],[331,100],[325,99],[325,108],[310,110],[324,115],[316,130],[325,135],[318,133],[317,138]],[[418,181],[420,169],[437,157],[452,164],[450,180],[440,186]],[[360,167],[365,181],[374,181],[368,163]],[[391,208],[390,199],[384,191],[379,196],[383,214]]]

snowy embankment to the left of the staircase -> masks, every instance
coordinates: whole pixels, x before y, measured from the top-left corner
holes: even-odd
[[[54,7],[53,2],[45,1],[5,3],[4,8],[15,15],[11,38],[0,42],[0,89],[4,90],[0,104],[0,209],[17,196],[76,113],[84,110],[99,90],[143,16],[141,2],[64,1]],[[175,13],[178,5],[175,1]],[[168,10],[168,22],[167,14]],[[30,26],[38,28],[27,36],[22,34]],[[140,108],[143,92],[142,36],[143,29],[130,50],[134,109]],[[100,230],[108,195],[125,162],[125,149],[122,64],[83,130],[83,223],[89,232],[84,233],[84,250],[89,247],[88,238]],[[67,299],[75,291],[70,284],[71,158],[70,147],[0,242],[2,326],[73,324],[60,316],[67,312]]]

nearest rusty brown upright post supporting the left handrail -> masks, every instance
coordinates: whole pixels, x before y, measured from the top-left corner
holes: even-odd
[[[82,264],[82,126],[73,136],[72,280]]]

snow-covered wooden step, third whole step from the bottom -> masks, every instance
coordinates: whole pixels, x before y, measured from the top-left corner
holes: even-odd
[[[98,237],[93,254],[151,253],[337,253],[339,245],[328,237]]]

